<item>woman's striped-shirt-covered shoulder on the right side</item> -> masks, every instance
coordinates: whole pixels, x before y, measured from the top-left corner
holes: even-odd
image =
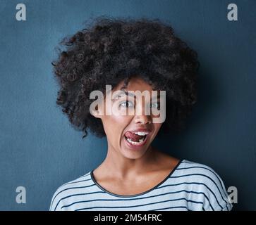
[[[202,210],[231,210],[224,182],[217,172],[207,165],[182,160],[173,173],[173,179],[182,182],[190,195],[197,194]]]

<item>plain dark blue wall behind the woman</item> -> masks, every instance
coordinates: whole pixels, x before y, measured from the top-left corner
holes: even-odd
[[[16,20],[16,4],[27,21]],[[227,6],[238,5],[238,21]],[[154,141],[214,168],[238,188],[235,210],[256,210],[256,1],[0,1],[0,210],[48,210],[61,184],[99,165],[106,139],[82,140],[56,107],[51,60],[63,37],[98,15],[159,18],[197,50],[199,99],[188,128]],[[16,203],[25,186],[27,203]]]

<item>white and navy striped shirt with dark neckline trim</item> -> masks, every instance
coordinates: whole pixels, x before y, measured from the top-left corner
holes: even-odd
[[[229,211],[232,209],[223,181],[214,170],[181,160],[157,186],[136,195],[117,195],[100,186],[88,172],[63,184],[51,199],[51,211]]]

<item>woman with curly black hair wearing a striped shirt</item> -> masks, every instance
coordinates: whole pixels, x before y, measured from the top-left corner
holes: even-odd
[[[106,136],[108,149],[99,167],[58,188],[50,210],[231,210],[213,169],[152,147],[157,135],[185,127],[197,99],[197,53],[169,25],[98,18],[62,44],[57,103],[83,137]],[[92,92],[106,85],[92,108]],[[164,121],[153,113],[160,108]]]

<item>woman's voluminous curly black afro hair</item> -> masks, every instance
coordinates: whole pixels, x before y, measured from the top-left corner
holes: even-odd
[[[62,39],[54,65],[57,105],[75,129],[106,136],[102,121],[90,114],[90,93],[106,84],[124,87],[139,75],[154,90],[166,91],[166,120],[159,133],[181,131],[197,102],[197,53],[158,19],[96,18]]]

